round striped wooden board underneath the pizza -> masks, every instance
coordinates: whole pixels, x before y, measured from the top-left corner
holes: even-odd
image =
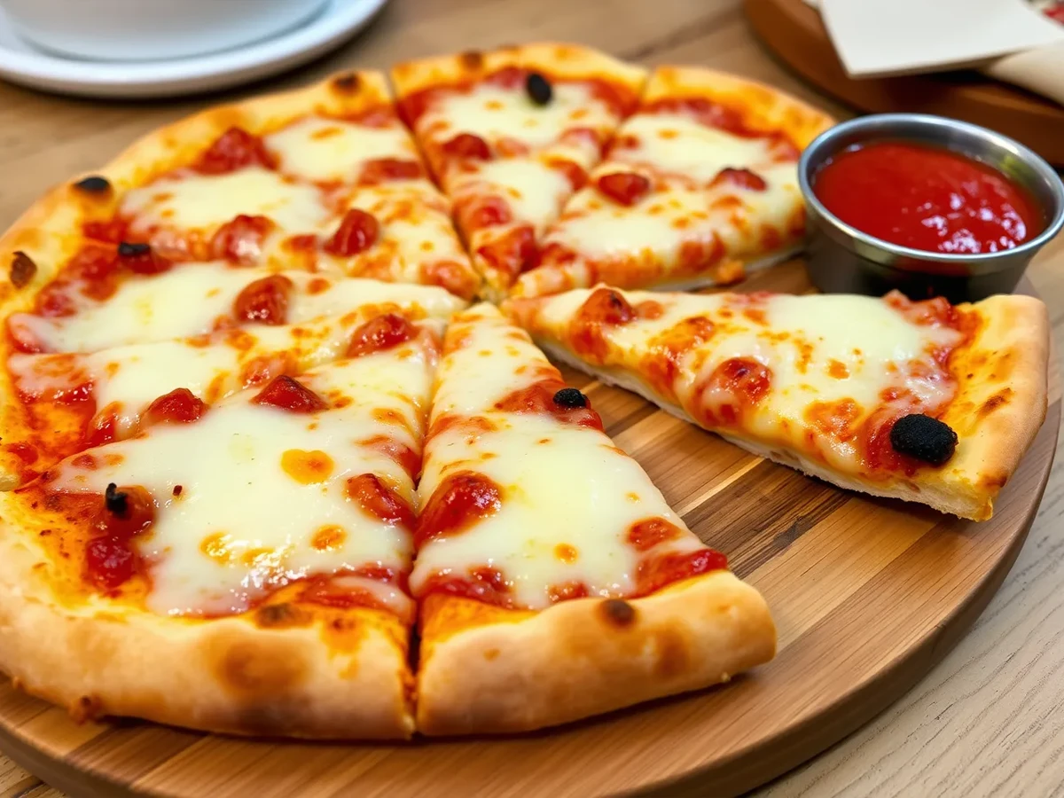
[[[810,290],[798,262],[743,288]],[[768,600],[779,654],[728,686],[517,737],[334,745],[223,738],[135,721],[79,726],[4,682],[0,746],[76,797],[554,798],[749,789],[886,708],[990,601],[1049,476],[1061,415],[1055,358],[1053,364],[1046,423],[984,523],[836,489],[566,370],[617,445]]]

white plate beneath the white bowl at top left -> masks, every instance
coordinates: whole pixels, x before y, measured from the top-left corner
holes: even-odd
[[[180,2],[180,0],[174,0]],[[36,50],[0,11],[0,78],[83,97],[173,97],[235,86],[305,64],[364,28],[387,0],[331,0],[300,28],[225,52],[188,59],[100,62]]]

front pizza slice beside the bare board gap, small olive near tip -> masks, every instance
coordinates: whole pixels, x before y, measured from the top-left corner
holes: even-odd
[[[447,331],[418,497],[426,734],[562,724],[774,655],[761,595],[492,305]]]

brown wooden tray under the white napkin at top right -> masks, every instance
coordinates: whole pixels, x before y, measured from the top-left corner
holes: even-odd
[[[974,71],[852,80],[815,9],[802,0],[744,4],[768,49],[822,92],[862,111],[914,111],[982,124],[1064,167],[1064,107],[1055,102]]]

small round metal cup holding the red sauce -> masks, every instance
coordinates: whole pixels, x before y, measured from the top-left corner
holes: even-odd
[[[816,198],[816,172],[835,153],[876,140],[937,145],[998,169],[1033,197],[1042,213],[1042,232],[1000,252],[944,254],[899,247],[850,227]],[[809,276],[830,294],[882,296],[897,288],[911,299],[943,296],[951,302],[1008,294],[1031,257],[1064,225],[1064,184],[1049,164],[1000,133],[941,116],[876,114],[836,124],[805,148],[798,182],[809,219]]]

